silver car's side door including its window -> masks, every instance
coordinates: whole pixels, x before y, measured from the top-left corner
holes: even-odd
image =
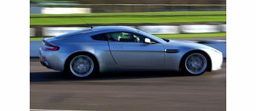
[[[152,43],[145,43],[146,37],[131,32],[112,32],[107,37],[111,54],[119,66],[164,66],[162,44],[152,40]]]

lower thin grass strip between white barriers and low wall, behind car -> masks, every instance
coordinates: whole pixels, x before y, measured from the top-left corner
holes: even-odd
[[[160,38],[202,38],[202,37],[226,37],[226,32],[203,34],[157,34]],[[42,38],[30,38],[30,41],[40,41]]]

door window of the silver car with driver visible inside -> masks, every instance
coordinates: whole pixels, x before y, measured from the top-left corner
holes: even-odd
[[[129,32],[111,32],[106,35],[108,40],[110,41],[145,43],[145,37],[143,37],[142,35],[133,34]]]

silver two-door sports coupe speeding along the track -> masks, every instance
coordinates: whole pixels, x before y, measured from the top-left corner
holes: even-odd
[[[222,53],[207,45],[166,40],[130,27],[95,27],[45,38],[43,66],[88,77],[110,71],[182,71],[199,75],[218,70]]]

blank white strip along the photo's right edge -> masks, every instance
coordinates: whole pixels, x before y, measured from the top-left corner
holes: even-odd
[[[256,110],[255,1],[227,0],[227,110]]]

